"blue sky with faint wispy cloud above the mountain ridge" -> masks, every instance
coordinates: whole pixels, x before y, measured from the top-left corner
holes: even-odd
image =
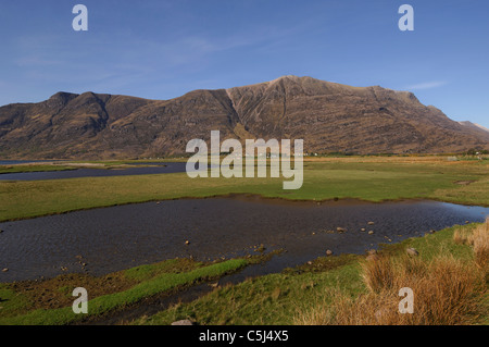
[[[88,32],[72,9],[88,8]],[[414,32],[398,9],[414,8]],[[489,127],[487,0],[0,2],[0,104],[57,91],[170,99],[281,75],[411,90]]]

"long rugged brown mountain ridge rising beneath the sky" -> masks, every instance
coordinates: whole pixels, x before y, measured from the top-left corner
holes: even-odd
[[[473,126],[408,91],[284,76],[171,100],[58,92],[0,108],[0,157],[141,158],[184,153],[192,138],[304,139],[305,152],[439,153],[489,148]]]

